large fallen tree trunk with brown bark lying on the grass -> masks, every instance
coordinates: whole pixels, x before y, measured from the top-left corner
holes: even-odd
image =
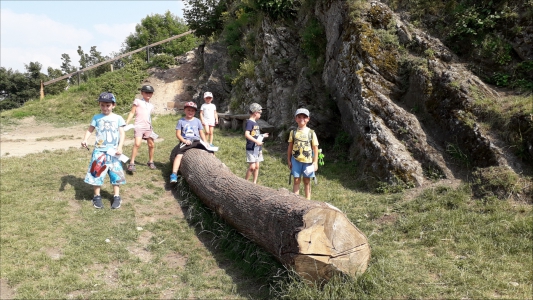
[[[253,184],[199,149],[185,153],[180,172],[206,206],[303,278],[327,281],[366,270],[367,238],[337,208]]]

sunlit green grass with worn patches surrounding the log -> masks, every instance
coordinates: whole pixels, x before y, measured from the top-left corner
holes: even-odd
[[[155,118],[164,139],[156,144],[158,169],[141,166],[143,144],[116,211],[107,202],[109,183],[102,188],[105,208],[92,207],[92,188],[83,182],[88,151],[1,159],[0,277],[17,298],[531,296],[530,203],[476,200],[467,185],[435,186],[414,198],[367,193],[355,182],[355,165],[328,156],[313,199],[345,212],[368,236],[372,258],[359,278],[308,285],[205,208],[185,182],[179,191],[168,184],[176,120]],[[215,130],[217,157],[240,177],[243,139],[241,132]],[[283,147],[267,141],[259,184],[290,188]]]

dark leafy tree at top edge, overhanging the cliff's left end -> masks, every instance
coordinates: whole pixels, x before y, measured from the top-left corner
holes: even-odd
[[[222,31],[225,0],[187,0],[185,6],[183,18],[196,36],[205,38]]]

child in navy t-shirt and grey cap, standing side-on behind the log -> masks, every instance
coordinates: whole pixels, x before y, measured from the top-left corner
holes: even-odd
[[[254,183],[257,183],[259,175],[259,163],[263,161],[263,138],[268,137],[268,133],[260,134],[257,120],[261,118],[261,105],[252,103],[250,105],[250,119],[246,120],[244,136],[246,137],[246,162],[249,164],[246,170],[246,180],[254,174]]]

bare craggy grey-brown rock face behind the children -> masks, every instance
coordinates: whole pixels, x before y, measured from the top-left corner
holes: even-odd
[[[478,125],[474,100],[497,99],[498,93],[440,40],[381,2],[347,5],[319,1],[294,24],[264,19],[253,72],[237,82],[228,82],[223,44],[200,47],[206,75],[197,95],[212,91],[219,111],[244,113],[249,103],[260,103],[280,139],[294,126],[293,112],[306,107],[320,139],[348,133],[350,158],[368,178],[390,183],[423,185],[430,176],[463,177],[475,167],[507,166],[518,173],[531,167]],[[301,51],[301,27],[310,18],[325,28],[319,72]],[[517,120],[533,135],[527,115]],[[533,152],[533,136],[526,143]]]

